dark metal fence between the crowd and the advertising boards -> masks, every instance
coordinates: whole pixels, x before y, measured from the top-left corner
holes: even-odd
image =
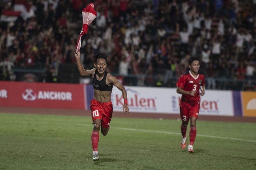
[[[79,83],[83,79],[80,76],[77,66],[65,65],[56,72],[46,69],[13,69],[16,75],[15,81],[35,81],[35,82],[56,82],[56,83]],[[170,75],[145,75],[145,74],[129,74],[119,75],[111,73],[120,80],[123,85],[127,86],[150,86],[150,87],[173,87],[179,77]],[[88,81],[87,81],[88,82]],[[91,80],[90,80],[91,82]],[[256,91],[256,79],[237,80],[225,78],[205,78],[206,89],[218,90],[234,90],[234,91]]]

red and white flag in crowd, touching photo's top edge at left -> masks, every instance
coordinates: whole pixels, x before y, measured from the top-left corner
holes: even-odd
[[[20,11],[20,16],[26,21],[28,18],[34,17],[34,9],[27,0],[15,0],[14,11]]]

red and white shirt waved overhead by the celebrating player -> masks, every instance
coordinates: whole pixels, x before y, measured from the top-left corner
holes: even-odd
[[[90,3],[86,6],[86,8],[83,9],[82,11],[83,14],[83,27],[82,30],[80,32],[80,35],[78,37],[77,40],[77,44],[76,44],[76,50],[74,51],[74,53],[78,54],[81,45],[84,41],[85,35],[87,34],[88,31],[88,25],[93,22],[93,20],[96,18],[97,13],[94,10],[94,3]]]

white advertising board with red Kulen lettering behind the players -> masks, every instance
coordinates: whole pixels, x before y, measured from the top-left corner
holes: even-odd
[[[179,114],[181,95],[176,88],[125,86],[130,112]],[[113,110],[122,112],[122,92],[112,91]],[[233,116],[232,91],[206,90],[201,97],[200,115]]]

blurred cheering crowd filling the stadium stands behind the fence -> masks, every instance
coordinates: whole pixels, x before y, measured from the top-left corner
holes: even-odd
[[[1,12],[13,10],[15,0],[3,2]],[[85,68],[105,53],[124,85],[173,87],[197,56],[207,89],[224,89],[216,80],[225,79],[256,90],[255,0],[28,0],[34,15],[0,22],[0,80],[15,81],[14,68],[58,75],[61,64],[75,63],[90,2],[97,18],[81,47]]]

